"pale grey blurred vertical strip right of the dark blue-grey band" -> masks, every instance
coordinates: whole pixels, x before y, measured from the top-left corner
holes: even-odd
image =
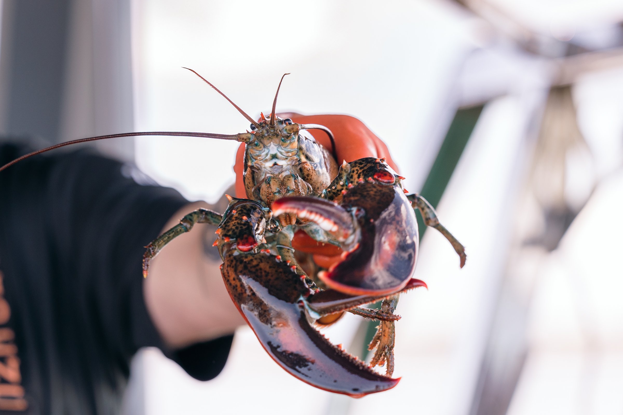
[[[72,0],[63,140],[134,130],[130,0]],[[134,139],[95,146],[123,161]]]

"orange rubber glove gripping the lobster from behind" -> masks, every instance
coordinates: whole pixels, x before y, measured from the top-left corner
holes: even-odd
[[[338,166],[343,160],[351,162],[363,157],[385,157],[389,166],[398,172],[396,163],[389,155],[388,147],[381,139],[379,139],[372,131],[366,127],[366,124],[359,119],[348,115],[301,115],[297,113],[281,113],[277,114],[281,118],[291,118],[292,121],[299,124],[321,124],[333,132],[335,136],[335,154],[338,157]],[[318,129],[307,130],[311,133],[316,141],[320,142],[328,151],[332,152],[331,140],[328,134]],[[235,157],[234,172],[236,175],[235,191],[236,197],[247,198],[242,182],[242,173],[244,171],[244,143],[240,144]],[[313,240],[304,231],[298,231],[292,240],[294,249],[300,249],[304,252],[313,253],[313,259],[316,264],[329,268],[332,264],[340,261],[341,249],[335,245],[321,245]]]

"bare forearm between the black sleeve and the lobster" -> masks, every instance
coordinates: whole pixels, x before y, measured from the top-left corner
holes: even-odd
[[[163,231],[201,207],[220,208],[205,202],[186,205],[169,219]],[[168,347],[211,340],[245,324],[222,280],[218,251],[211,246],[215,230],[216,226],[195,225],[171,241],[151,263],[143,285],[145,302]]]

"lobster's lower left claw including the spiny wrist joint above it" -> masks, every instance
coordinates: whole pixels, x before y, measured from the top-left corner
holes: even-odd
[[[316,388],[359,397],[396,386],[399,379],[379,375],[312,327],[320,315],[308,307],[315,291],[305,276],[270,249],[256,249],[266,212],[252,200],[230,198],[216,241],[227,291],[262,347],[284,370]]]

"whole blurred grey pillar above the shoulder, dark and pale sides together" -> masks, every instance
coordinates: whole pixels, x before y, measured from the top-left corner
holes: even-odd
[[[49,144],[132,131],[130,0],[4,0],[0,133]],[[133,160],[133,139],[98,142]]]

